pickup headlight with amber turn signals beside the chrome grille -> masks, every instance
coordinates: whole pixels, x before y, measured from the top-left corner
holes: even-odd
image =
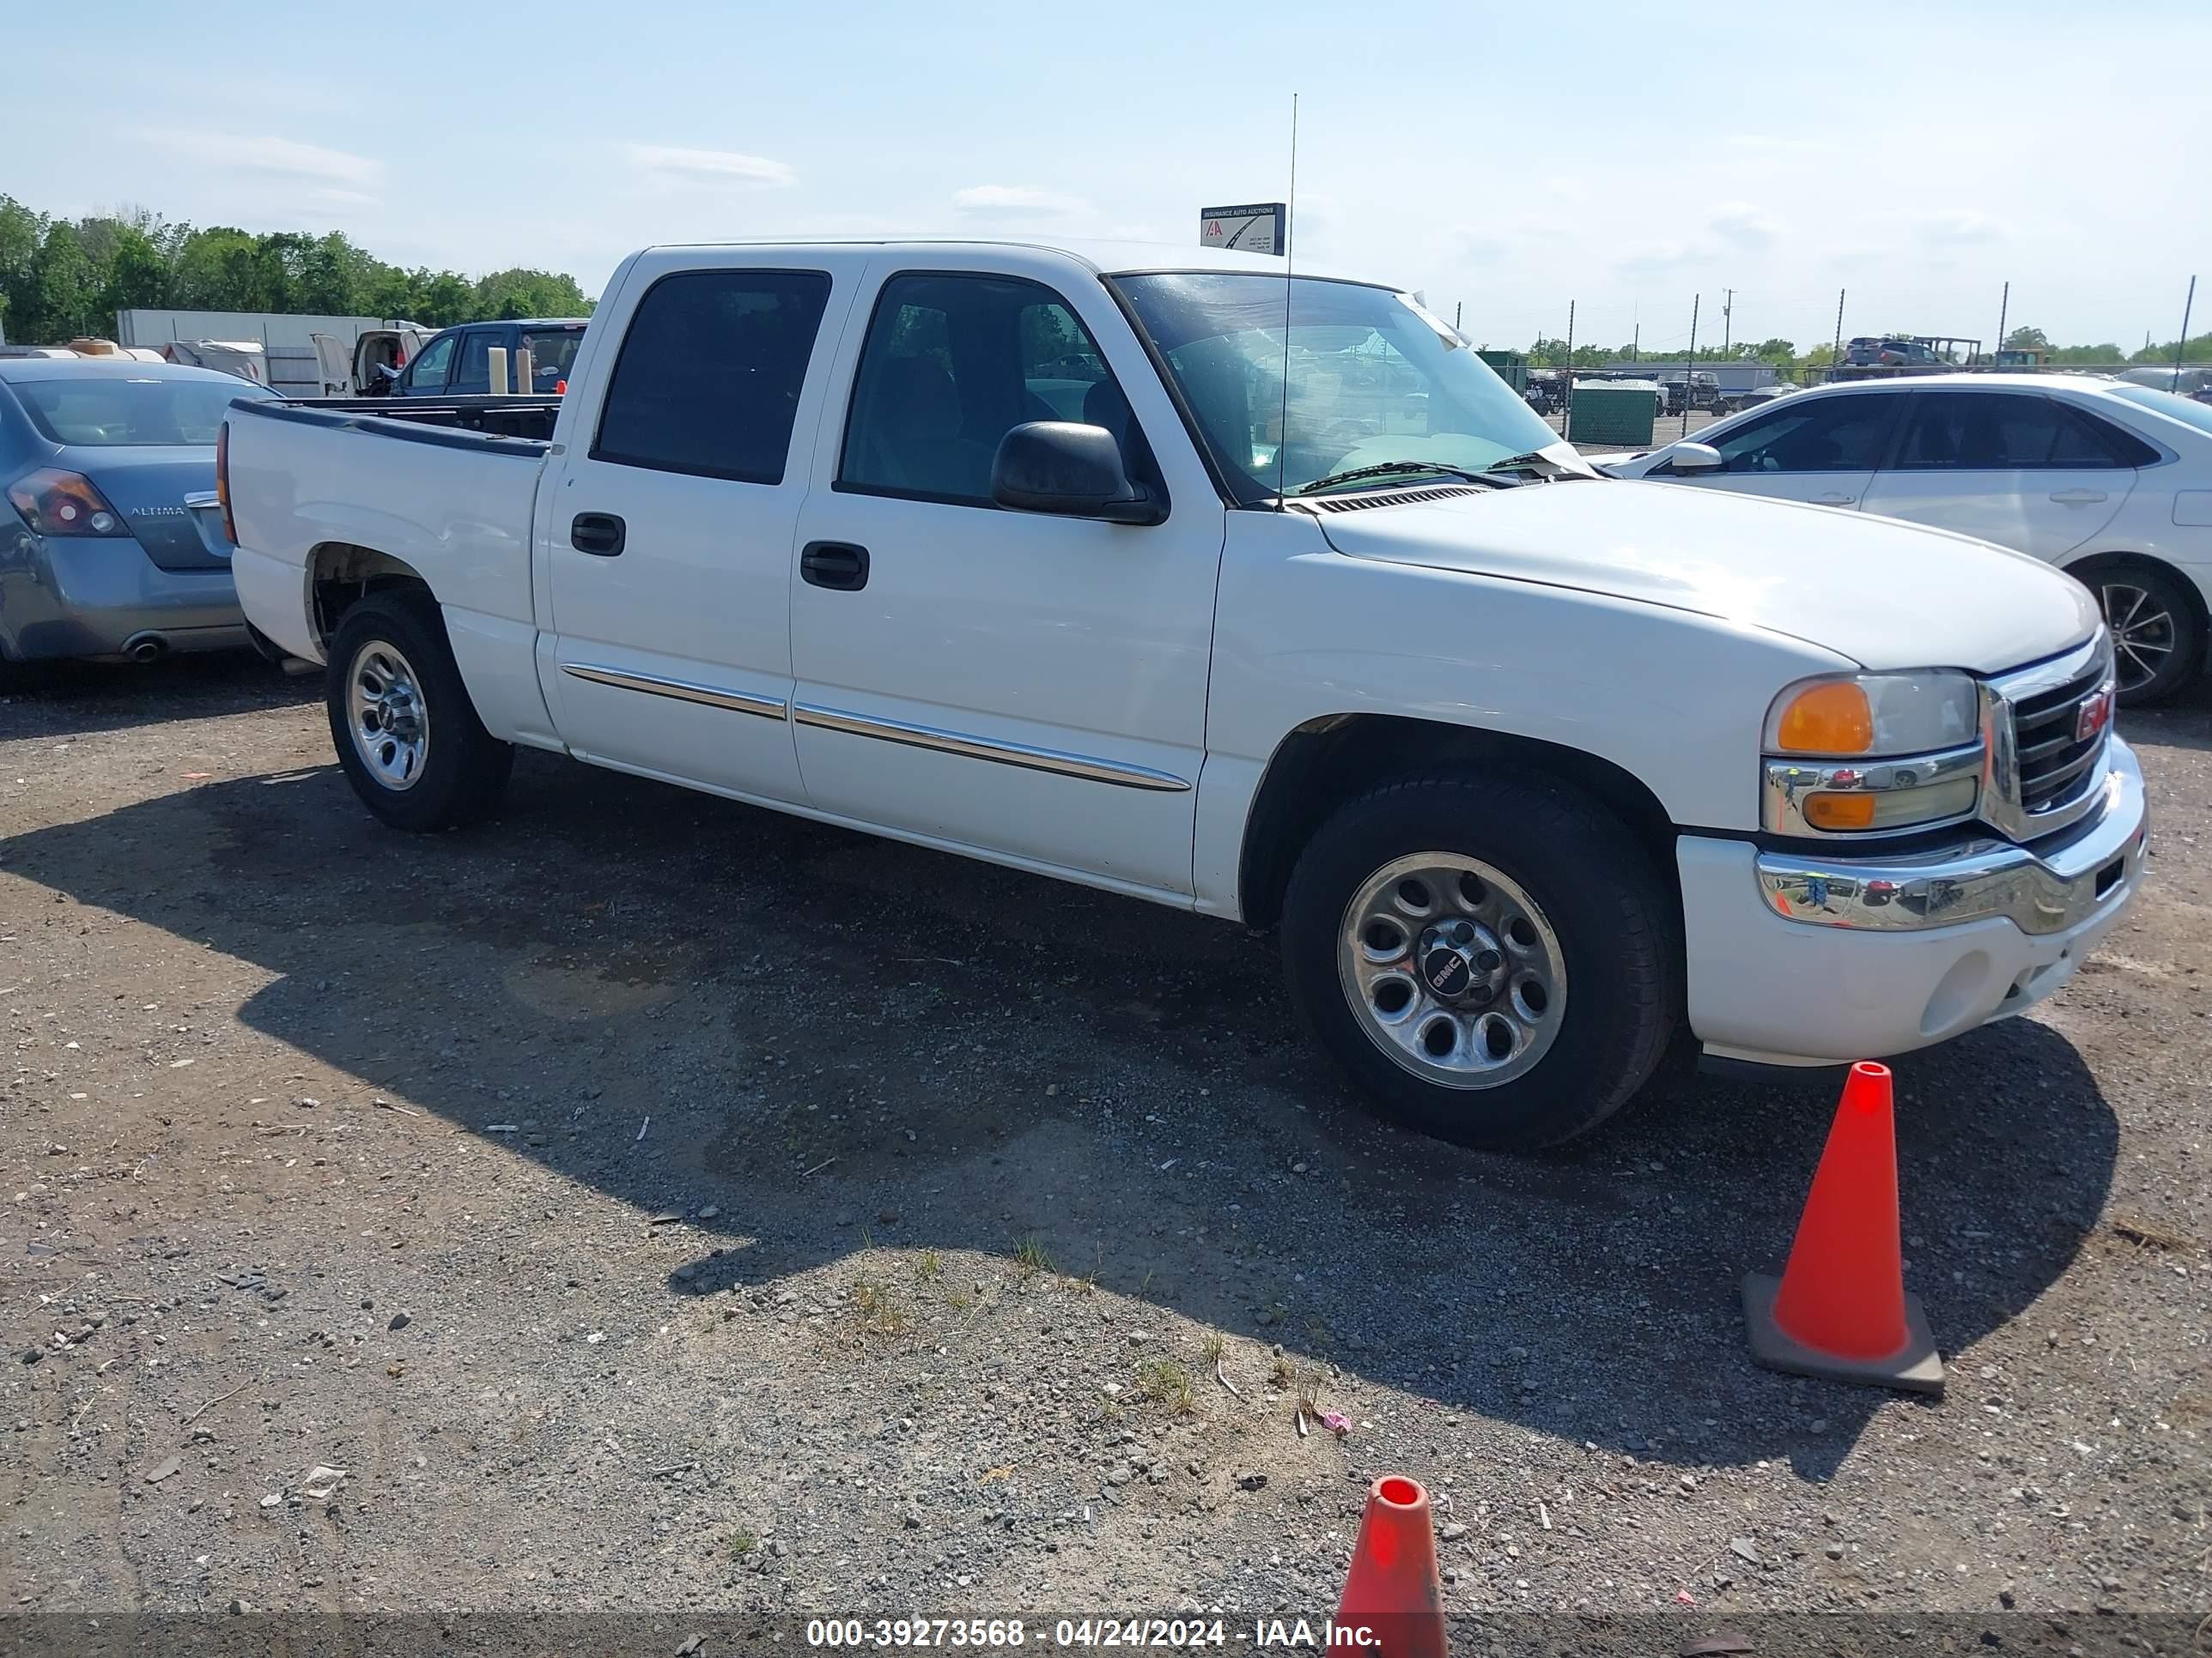
[[[1966,674],[1807,679],[1774,699],[1763,820],[1774,833],[1896,833],[1971,818],[1982,696]]]

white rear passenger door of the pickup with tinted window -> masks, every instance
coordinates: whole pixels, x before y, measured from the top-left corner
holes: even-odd
[[[538,497],[540,679],[584,758],[796,805],[792,537],[867,254],[741,256],[648,254],[593,327]]]

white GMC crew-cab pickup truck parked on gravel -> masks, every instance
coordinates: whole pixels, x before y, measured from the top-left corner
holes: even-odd
[[[1276,926],[1455,1141],[1588,1130],[1683,1024],[1823,1063],[2020,1012],[2143,873],[2070,577],[1599,478],[1385,283],[653,248],[557,405],[405,413],[239,405],[221,466],[378,818],[526,743]]]

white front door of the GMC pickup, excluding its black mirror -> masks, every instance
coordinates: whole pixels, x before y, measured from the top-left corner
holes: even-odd
[[[1221,497],[1097,276],[878,259],[823,420],[792,586],[794,725],[825,814],[1190,893]],[[1164,524],[1018,513],[1026,420],[1102,424]]]

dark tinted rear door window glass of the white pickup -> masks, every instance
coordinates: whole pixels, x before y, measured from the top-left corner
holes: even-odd
[[[593,460],[781,484],[830,276],[688,270],[639,301]]]

